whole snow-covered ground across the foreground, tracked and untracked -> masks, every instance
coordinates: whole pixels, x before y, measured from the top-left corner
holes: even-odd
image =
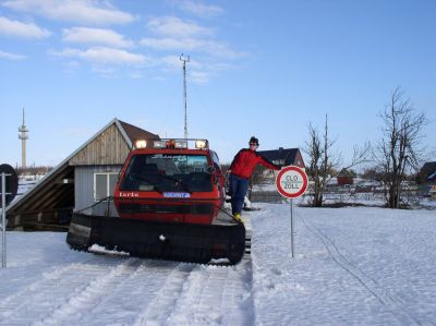
[[[254,204],[232,267],[70,251],[8,232],[0,325],[435,325],[436,210]]]

